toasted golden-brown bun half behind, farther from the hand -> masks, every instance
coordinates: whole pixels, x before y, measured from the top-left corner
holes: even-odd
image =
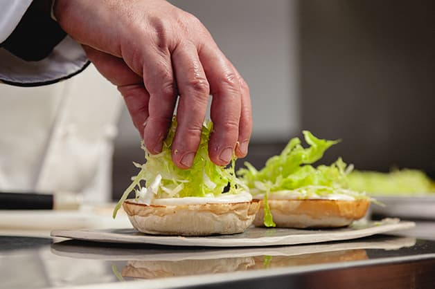
[[[344,227],[362,218],[370,205],[370,200],[269,200],[270,212],[276,227]],[[254,225],[264,227],[264,202]]]

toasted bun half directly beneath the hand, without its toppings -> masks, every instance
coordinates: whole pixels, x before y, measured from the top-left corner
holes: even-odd
[[[145,205],[127,200],[123,209],[133,227],[146,234],[207,236],[244,232],[254,221],[260,203]]]

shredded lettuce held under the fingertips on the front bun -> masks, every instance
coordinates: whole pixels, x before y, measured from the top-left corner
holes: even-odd
[[[172,125],[168,136],[163,142],[161,153],[152,155],[142,144],[145,151],[146,162],[134,165],[141,169],[137,176],[132,177],[132,184],[125,189],[123,196],[114,208],[115,218],[118,209],[131,192],[136,192],[136,198],[143,199],[144,203],[151,203],[153,198],[184,198],[219,196],[229,185],[225,194],[238,194],[247,187],[236,177],[234,165],[236,156],[233,156],[229,167],[215,165],[208,157],[208,138],[213,131],[211,121],[204,122],[201,142],[189,169],[179,169],[172,162],[171,145],[177,128],[177,118],[172,118]]]

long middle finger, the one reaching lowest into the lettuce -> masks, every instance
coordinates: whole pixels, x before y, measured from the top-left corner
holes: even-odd
[[[172,142],[172,160],[178,167],[188,168],[192,165],[201,140],[209,87],[197,49],[191,42],[179,44],[175,48],[172,62],[179,91],[178,127]]]

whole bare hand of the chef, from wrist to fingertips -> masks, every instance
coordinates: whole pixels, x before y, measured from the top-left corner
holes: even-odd
[[[197,18],[163,0],[57,0],[54,12],[118,86],[151,153],[161,151],[179,95],[172,160],[190,167],[211,94],[211,160],[227,165],[234,151],[246,156],[249,88]]]

